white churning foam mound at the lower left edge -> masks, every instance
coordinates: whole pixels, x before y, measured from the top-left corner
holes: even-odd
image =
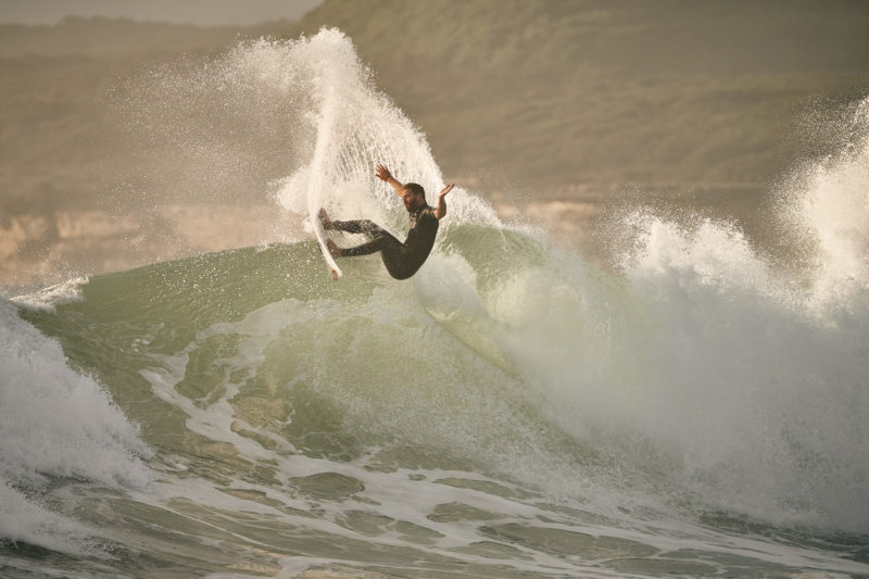
[[[88,529],[40,504],[38,490],[59,478],[146,486],[137,455],[150,451],[103,389],[2,299],[0,366],[0,537],[77,551]]]

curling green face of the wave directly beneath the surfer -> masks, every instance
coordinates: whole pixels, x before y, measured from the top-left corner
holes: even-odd
[[[196,454],[184,426],[196,408],[268,450],[349,460],[382,446],[392,468],[505,466],[533,452],[515,446],[540,443],[542,426],[509,350],[528,314],[499,301],[555,274],[522,234],[459,226],[443,239],[410,282],[377,257],[345,262],[333,282],[313,242],[274,244],[95,276],[80,301],[24,315],[159,449]]]

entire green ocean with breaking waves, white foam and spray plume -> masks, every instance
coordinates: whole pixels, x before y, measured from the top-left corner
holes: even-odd
[[[194,81],[307,143],[276,210],[403,235],[374,164],[443,185],[337,30]],[[0,299],[0,576],[869,577],[869,101],[846,123],[777,191],[799,272],[634,211],[603,273],[457,187],[408,281],[333,282],[312,236]]]

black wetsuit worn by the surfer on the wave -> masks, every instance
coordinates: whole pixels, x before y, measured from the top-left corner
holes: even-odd
[[[395,279],[407,279],[425,263],[434,236],[438,235],[438,218],[430,205],[423,205],[411,213],[411,229],[407,240],[402,243],[382,227],[368,219],[353,222],[332,222],[332,229],[349,234],[365,234],[373,239],[362,246],[341,250],[341,256],[368,255],[380,252],[389,275]]]

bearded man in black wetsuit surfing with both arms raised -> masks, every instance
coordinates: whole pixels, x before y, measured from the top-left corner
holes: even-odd
[[[349,234],[365,234],[370,241],[353,248],[339,248],[335,241],[326,241],[332,257],[353,257],[369,255],[380,252],[383,265],[389,275],[395,279],[407,279],[413,276],[425,263],[434,244],[438,234],[438,224],[446,215],[446,193],[455,184],[450,184],[438,194],[438,206],[432,207],[426,203],[426,191],[415,182],[402,184],[383,165],[377,165],[377,177],[395,189],[404,201],[404,209],[411,216],[411,229],[407,239],[402,243],[382,227],[368,219],[351,222],[332,221],[326,210],[319,210],[319,219],[326,230],[347,231]]]

